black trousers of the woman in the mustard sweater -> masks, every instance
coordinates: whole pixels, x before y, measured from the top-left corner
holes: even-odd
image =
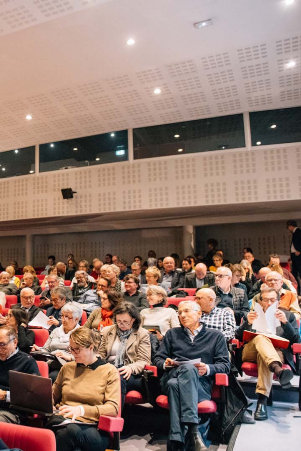
[[[62,415],[53,416],[46,424],[55,434],[57,451],[105,451],[109,444],[109,434],[98,430],[96,425],[69,423],[64,426],[59,424],[64,421]],[[57,426],[58,425],[58,426]]]

